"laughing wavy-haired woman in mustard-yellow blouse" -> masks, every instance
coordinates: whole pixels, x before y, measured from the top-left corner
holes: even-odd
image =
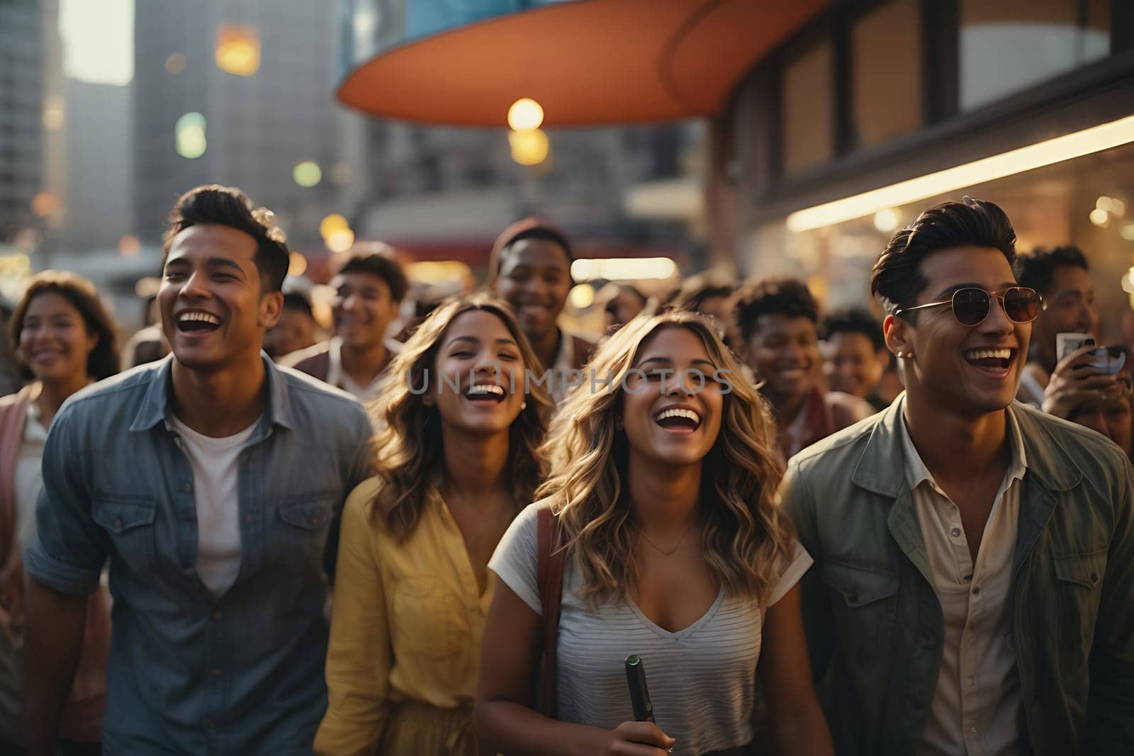
[[[378,475],[342,513],[315,753],[480,754],[485,568],[533,500],[551,407],[525,371],[539,359],[486,295],[443,304],[395,357],[374,405]]]

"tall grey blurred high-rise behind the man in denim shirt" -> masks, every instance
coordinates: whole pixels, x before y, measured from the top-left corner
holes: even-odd
[[[333,100],[337,3],[154,2],[135,16],[135,207],[156,241],[174,201],[205,182],[237,185],[270,207],[297,249],[321,248],[354,176]],[[301,163],[306,173],[296,172]],[[304,170],[304,169],[301,169]],[[302,186],[297,179],[307,186]]]

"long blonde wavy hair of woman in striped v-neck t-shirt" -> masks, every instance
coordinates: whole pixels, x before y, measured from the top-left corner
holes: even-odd
[[[660,329],[682,328],[701,339],[712,363],[731,383],[723,387],[720,432],[702,461],[702,551],[726,591],[751,595],[761,606],[789,559],[794,537],[778,507],[784,477],[776,424],[763,398],[748,384],[733,354],[702,315],[669,311],[642,314],[601,343],[589,366],[609,390],[576,389],[552,424],[545,450],[548,481],[536,491],[559,516],[565,547],[582,570],[579,597],[592,606],[625,600],[637,578],[634,526],[627,495],[628,442],[615,426],[624,401],[624,377],[643,345]],[[727,373],[725,373],[727,371]],[[706,385],[709,385],[706,383]]]

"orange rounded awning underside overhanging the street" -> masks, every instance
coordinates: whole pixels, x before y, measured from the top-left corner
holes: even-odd
[[[575,0],[393,48],[339,99],[375,116],[505,126],[519,97],[544,126],[719,113],[744,75],[830,0]]]

